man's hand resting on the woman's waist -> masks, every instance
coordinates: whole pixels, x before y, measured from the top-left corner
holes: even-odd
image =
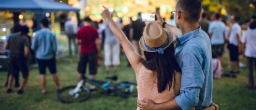
[[[137,106],[139,109],[154,109],[155,103],[150,99],[138,99]]]

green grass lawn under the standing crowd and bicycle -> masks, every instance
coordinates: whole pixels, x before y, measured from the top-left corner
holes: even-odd
[[[67,54],[66,37],[59,37],[58,44],[63,47]],[[228,69],[227,54],[224,56],[224,71]],[[245,63],[242,57],[242,62]],[[70,86],[77,83],[78,57],[64,57],[57,59],[58,76],[61,86]],[[104,64],[98,68],[97,78],[105,79],[106,76],[117,75],[118,81],[135,80],[134,71],[126,66],[127,61],[121,57],[121,64],[117,73],[105,73]],[[241,68],[237,78],[222,77],[214,79],[213,101],[219,104],[220,109],[256,109],[256,90],[246,88],[247,69]],[[88,76],[88,74],[86,74]],[[6,82],[7,72],[0,72],[0,109],[136,109],[136,98],[121,98],[118,96],[107,96],[101,94],[98,89],[91,93],[91,97],[80,103],[63,104],[58,101],[56,87],[50,73],[47,71],[47,94],[41,93],[40,80],[37,68],[30,68],[29,80],[22,95],[7,94]],[[255,75],[256,76],[256,75]],[[256,77],[255,77],[256,78]],[[20,80],[21,81],[21,76]],[[117,82],[118,82],[117,81]]]

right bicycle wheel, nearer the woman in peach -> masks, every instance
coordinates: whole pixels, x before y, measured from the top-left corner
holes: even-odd
[[[135,81],[122,81],[115,85],[115,94],[121,97],[137,97],[137,83]]]

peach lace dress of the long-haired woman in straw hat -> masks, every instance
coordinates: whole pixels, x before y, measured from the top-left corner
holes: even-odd
[[[155,103],[163,103],[175,98],[173,89],[166,89],[162,93],[157,90],[157,78],[154,72],[150,71],[143,65],[136,74],[138,99],[151,99]],[[138,108],[137,108],[138,109]]]

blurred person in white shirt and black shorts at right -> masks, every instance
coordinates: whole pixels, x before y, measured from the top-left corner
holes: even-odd
[[[236,77],[234,73],[239,73],[239,53],[241,53],[242,44],[240,41],[241,38],[241,27],[239,25],[240,18],[237,16],[231,17],[232,27],[229,33],[229,58],[232,71],[230,74],[232,77]]]

